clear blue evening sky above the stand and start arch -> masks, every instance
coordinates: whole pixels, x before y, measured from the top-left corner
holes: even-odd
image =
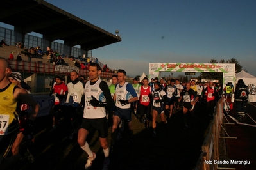
[[[46,0],[122,41],[92,56],[130,76],[149,63],[208,63],[236,58],[256,76],[256,1]],[[185,75],[185,73],[181,73]]]

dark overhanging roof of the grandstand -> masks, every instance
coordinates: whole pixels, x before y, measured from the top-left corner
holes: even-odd
[[[49,37],[49,41],[60,39],[85,50],[121,41],[119,36],[43,0],[2,0],[0,22],[15,26],[24,35],[33,31]]]

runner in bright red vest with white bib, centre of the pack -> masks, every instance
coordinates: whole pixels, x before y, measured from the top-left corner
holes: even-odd
[[[141,123],[146,123],[145,127],[149,130],[149,116],[151,116],[151,100],[152,92],[151,86],[148,85],[148,77],[142,80],[143,86],[139,88],[139,113]]]

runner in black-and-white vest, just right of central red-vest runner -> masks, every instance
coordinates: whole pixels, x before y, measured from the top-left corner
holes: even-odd
[[[152,128],[153,128],[153,137],[157,137],[157,132],[155,128],[157,127],[156,119],[157,115],[160,114],[162,122],[167,124],[167,120],[164,115],[164,102],[168,101],[166,92],[161,89],[160,82],[156,81],[154,83],[155,90],[152,92],[153,96],[153,107],[152,107]]]

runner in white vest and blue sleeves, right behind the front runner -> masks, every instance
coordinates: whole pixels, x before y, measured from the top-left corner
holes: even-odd
[[[133,130],[132,130],[132,110],[131,104],[138,100],[137,93],[135,92],[132,84],[126,82],[126,72],[124,70],[117,71],[118,84],[115,88],[115,106],[117,111],[114,113],[112,135],[111,135],[111,149],[114,150],[115,138],[117,133],[117,125],[122,118],[128,121],[130,142],[133,143]]]

